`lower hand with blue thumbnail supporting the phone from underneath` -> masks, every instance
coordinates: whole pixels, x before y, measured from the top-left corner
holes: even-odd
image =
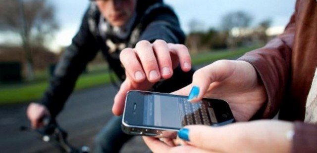
[[[143,139],[154,153],[288,153],[293,134],[291,122],[258,120],[220,127],[185,126],[178,132],[184,141],[177,147],[171,147],[153,137]]]

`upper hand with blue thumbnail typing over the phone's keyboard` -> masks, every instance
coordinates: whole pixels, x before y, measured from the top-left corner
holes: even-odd
[[[245,61],[216,61],[197,70],[192,84],[173,92],[178,95],[189,93],[192,102],[203,97],[226,100],[237,121],[249,120],[267,99],[255,68]]]

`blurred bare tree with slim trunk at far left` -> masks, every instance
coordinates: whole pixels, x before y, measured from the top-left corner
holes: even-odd
[[[27,78],[33,79],[32,48],[45,46],[58,29],[47,0],[0,0],[0,32],[18,33],[25,51]]]

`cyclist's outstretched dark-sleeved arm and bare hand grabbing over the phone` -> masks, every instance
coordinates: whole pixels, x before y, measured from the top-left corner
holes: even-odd
[[[114,98],[112,112],[115,115],[122,114],[129,90],[170,92],[191,82],[193,71],[188,49],[182,44],[166,43],[184,42],[174,12],[167,6],[156,4],[146,11],[141,23],[140,41],[135,48],[125,48],[120,53],[127,78]]]

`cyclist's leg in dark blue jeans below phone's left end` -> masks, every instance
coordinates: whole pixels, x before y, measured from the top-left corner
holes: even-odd
[[[133,137],[123,133],[121,121],[122,116],[113,116],[98,133],[95,139],[96,153],[119,153],[124,143]]]

